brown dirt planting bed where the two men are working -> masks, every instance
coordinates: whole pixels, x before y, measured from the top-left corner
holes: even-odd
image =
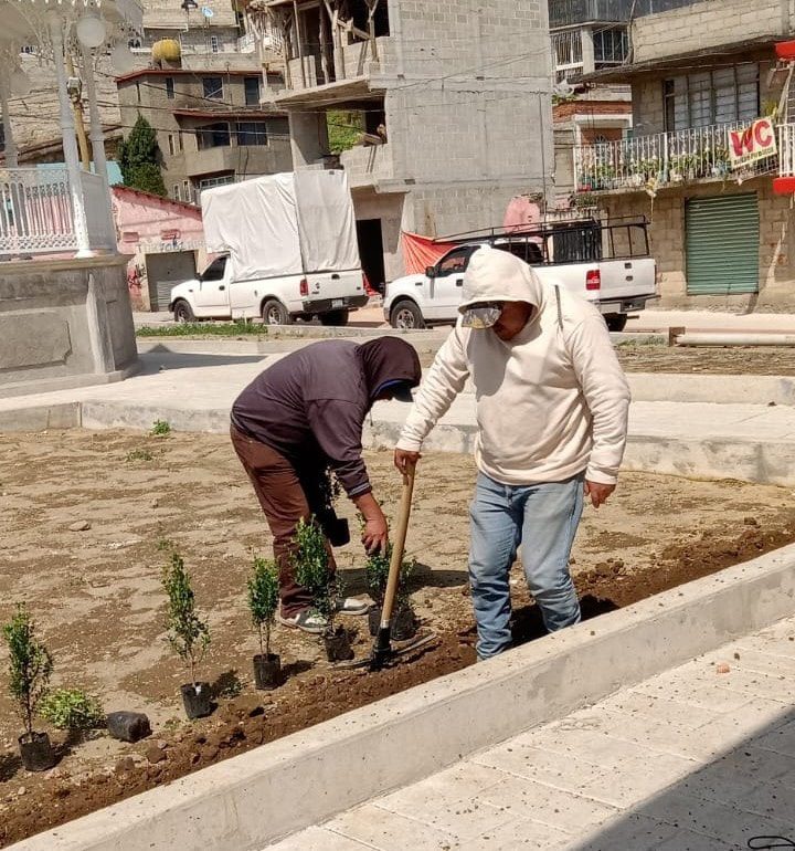
[[[400,479],[390,454],[370,453],[368,462],[377,494],[396,506]],[[474,661],[469,458],[431,454],[417,477],[409,539],[421,565],[413,600],[423,628],[438,633],[437,645],[369,674],[335,670],[321,660],[317,640],[277,629],[275,645],[289,676],[269,694],[253,690],[257,645],[245,608],[252,558],[269,553],[269,535],[225,438],[80,430],[0,435],[0,619],[26,600],[55,658],[54,685],[86,689],[107,711],[147,712],[155,727],[138,745],[105,734],[74,743],[50,731],[62,759],[49,773],[29,775],[19,765],[20,725],[3,691],[0,844]],[[575,545],[572,569],[584,612],[627,606],[795,540],[792,497],[781,487],[624,475],[607,506],[586,509]],[[350,506],[341,507],[352,518]],[[80,522],[91,527],[70,529]],[[219,707],[193,724],[179,702],[187,677],[163,633],[159,575],[171,547],[193,575],[213,635],[203,679],[215,682]],[[348,593],[363,593],[360,547],[346,547],[338,560]],[[513,584],[517,640],[529,640],[542,629],[518,570]],[[363,619],[348,626],[359,630],[357,654],[369,653]]]

